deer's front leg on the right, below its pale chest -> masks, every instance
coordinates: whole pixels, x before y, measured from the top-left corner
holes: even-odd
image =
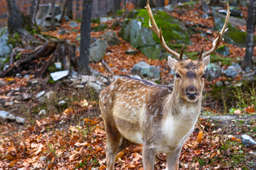
[[[178,159],[181,155],[181,149],[182,147],[179,147],[173,152],[166,153],[168,170],[178,170]]]

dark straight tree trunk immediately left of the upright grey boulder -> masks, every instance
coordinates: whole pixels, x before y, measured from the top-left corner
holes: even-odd
[[[91,30],[92,0],[82,1],[82,21],[81,21],[81,40],[80,57],[78,62],[79,74],[91,74],[89,67],[90,55],[90,30]]]

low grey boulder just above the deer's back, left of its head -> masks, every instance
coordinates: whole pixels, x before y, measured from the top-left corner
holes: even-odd
[[[160,79],[160,69],[146,62],[135,64],[132,67],[132,74],[139,74],[141,77],[148,77],[149,79]]]

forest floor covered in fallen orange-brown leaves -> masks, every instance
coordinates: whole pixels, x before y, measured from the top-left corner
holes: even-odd
[[[203,25],[212,26],[212,18],[202,20],[194,17],[199,6],[191,8],[183,15],[176,11],[171,15],[184,21],[193,21]],[[114,21],[108,21],[109,26]],[[97,24],[92,24],[92,27]],[[64,23],[62,28],[70,30],[70,34],[60,35],[58,30],[49,31],[47,34],[58,38],[63,38],[75,42],[78,33],[73,28]],[[75,28],[79,30],[78,28]],[[119,28],[115,31],[118,33]],[[107,30],[106,30],[107,31]],[[92,38],[97,38],[102,32],[92,32]],[[208,39],[202,38],[200,34],[191,35],[193,45],[187,46],[188,52],[200,51],[202,45],[206,50],[210,49],[211,42],[217,33],[208,35]],[[120,38],[121,39],[121,38]],[[230,47],[230,56],[244,56],[245,49],[240,49],[234,45]],[[149,60],[142,53],[137,55],[127,55],[126,50],[133,49],[129,43],[108,47],[104,60],[110,66],[114,74],[122,75],[131,71],[132,66],[139,61],[159,66],[161,69],[161,81],[170,82],[173,80],[169,76],[169,67],[166,60]],[[79,53],[77,53],[79,55]],[[101,62],[92,63],[91,67],[97,69],[104,75],[110,75]],[[225,67],[225,66],[223,66]],[[122,72],[121,70],[127,71]],[[221,78],[226,79],[226,78]],[[64,81],[58,81],[55,85],[47,84],[47,79],[38,80],[36,85],[30,84],[30,78],[1,79],[6,82],[0,89],[0,101],[10,103],[7,108],[18,115],[26,117],[27,124],[17,125],[13,122],[0,123],[0,169],[105,169],[105,129],[97,108],[97,93],[93,90],[74,89]],[[206,82],[206,90],[210,90],[210,84]],[[18,90],[17,90],[18,89]],[[40,106],[36,98],[32,97],[27,101],[18,101],[15,95],[21,96],[36,93],[42,90],[53,90],[58,92],[58,98],[68,97],[68,108],[58,108],[53,101],[49,101],[47,106]],[[13,105],[11,105],[13,102]],[[48,108],[47,116],[38,116],[36,108]],[[36,111],[35,111],[36,109]],[[213,111],[204,108],[205,111]],[[250,115],[247,111],[235,109],[236,118],[241,114]],[[223,111],[213,111],[213,113]],[[242,113],[241,113],[242,112]],[[252,117],[254,118],[254,117]],[[232,126],[231,126],[232,125]],[[230,127],[231,126],[231,127]],[[230,124],[219,123],[217,120],[200,118],[196,124],[193,134],[188,138],[183,146],[180,157],[180,169],[256,169],[255,147],[246,147],[240,141],[240,135],[250,134],[255,137],[255,119],[237,120]],[[166,160],[164,154],[157,154],[155,168],[164,169]],[[116,157],[115,169],[143,169],[142,168],[142,145],[132,145]]]

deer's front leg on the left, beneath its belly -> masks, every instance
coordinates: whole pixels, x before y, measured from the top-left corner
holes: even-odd
[[[155,157],[156,157],[156,149],[150,148],[148,145],[143,145],[142,159],[143,159],[143,167],[145,170],[154,169]]]

